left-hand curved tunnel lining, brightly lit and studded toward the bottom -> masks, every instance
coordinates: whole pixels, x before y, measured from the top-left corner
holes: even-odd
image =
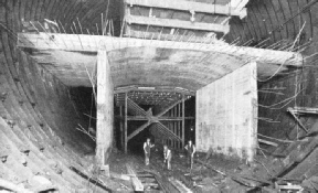
[[[65,28],[80,18],[88,26],[87,21],[97,21],[106,4],[75,0],[0,2],[1,179],[31,190],[40,185],[35,175],[51,180],[61,192],[85,192],[88,187],[87,180],[70,169],[88,173],[92,167],[92,160],[83,154],[93,152],[94,143],[75,129],[77,124],[86,127],[81,112],[68,88],[17,49],[17,32],[22,31],[22,21],[44,18],[60,20]]]

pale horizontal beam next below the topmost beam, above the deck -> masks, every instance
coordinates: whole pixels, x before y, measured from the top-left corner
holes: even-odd
[[[182,20],[171,20],[171,19],[160,19],[160,18],[148,18],[138,15],[126,15],[126,22],[131,24],[142,24],[142,25],[156,25],[156,26],[168,26],[173,29],[191,29],[191,30],[202,30],[202,31],[213,31],[229,33],[230,25],[222,25],[215,23],[202,23],[202,22],[191,22]]]

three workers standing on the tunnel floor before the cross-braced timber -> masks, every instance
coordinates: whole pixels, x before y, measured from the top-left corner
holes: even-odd
[[[150,150],[153,148],[155,144],[150,142],[150,138],[147,138],[147,141],[144,143],[144,151],[145,151],[145,164],[149,165],[150,163]],[[188,165],[191,167],[193,164],[193,158],[195,153],[195,146],[192,143],[191,140],[188,141],[188,144],[184,147],[187,150],[187,158],[188,158]],[[171,159],[172,152],[171,149],[168,148],[167,144],[163,146],[163,162],[167,164],[168,170],[171,170]]]

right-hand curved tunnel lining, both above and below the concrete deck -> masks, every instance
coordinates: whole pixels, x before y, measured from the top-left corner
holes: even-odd
[[[294,42],[295,47],[308,44],[301,52],[305,57],[309,56],[304,61],[301,69],[268,82],[258,82],[258,131],[276,138],[295,139],[297,133],[301,136],[304,130],[287,112],[287,108],[318,106],[317,55],[312,55],[317,52],[318,3],[311,0],[254,0],[250,1],[246,8],[245,19],[231,20],[231,32],[226,35],[229,42],[237,39],[241,40],[239,45],[243,45],[253,40],[247,44],[264,47],[275,47],[273,44],[280,42],[282,46],[276,49],[288,44],[290,46]],[[258,44],[266,39],[268,40]],[[314,126],[316,119],[315,116],[301,117],[308,129]]]

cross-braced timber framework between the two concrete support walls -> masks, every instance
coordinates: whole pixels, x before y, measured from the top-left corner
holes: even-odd
[[[115,117],[119,120],[120,143],[125,152],[129,140],[146,128],[156,137],[156,142],[167,143],[173,149],[184,147],[186,120],[194,120],[194,117],[186,117],[184,101],[194,94],[186,89],[152,88],[129,86],[115,89],[115,103],[119,108],[119,115]],[[151,107],[145,110],[141,105],[152,106],[153,112]],[[144,124],[128,133],[128,121]]]

